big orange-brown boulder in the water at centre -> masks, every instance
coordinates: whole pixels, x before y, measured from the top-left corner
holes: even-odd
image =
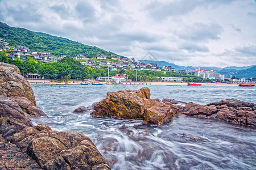
[[[161,125],[172,118],[170,104],[150,99],[150,90],[108,92],[106,99],[94,106],[93,116],[144,120],[145,124]]]

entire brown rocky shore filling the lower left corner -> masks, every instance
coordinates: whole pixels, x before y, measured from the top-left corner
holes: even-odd
[[[34,126],[39,116],[47,117],[18,67],[0,62],[0,169],[110,169],[88,137]]]

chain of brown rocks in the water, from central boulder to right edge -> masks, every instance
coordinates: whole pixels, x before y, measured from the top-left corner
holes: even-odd
[[[207,105],[185,103],[174,99],[150,99],[150,90],[122,90],[108,92],[106,99],[94,105],[91,113],[97,117],[118,117],[143,120],[147,125],[161,125],[172,116],[210,118],[231,124],[256,126],[256,104],[236,99],[226,99]]]

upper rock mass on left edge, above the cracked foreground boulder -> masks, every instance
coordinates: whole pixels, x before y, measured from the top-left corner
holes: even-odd
[[[18,67],[0,62],[0,134],[4,138],[32,126],[31,117],[46,116],[36,107],[30,84]]]

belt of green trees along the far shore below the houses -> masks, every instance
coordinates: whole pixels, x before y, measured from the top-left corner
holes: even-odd
[[[88,67],[81,65],[79,61],[75,61],[75,59],[69,57],[65,57],[57,62],[42,63],[36,62],[32,57],[27,57],[24,61],[21,61],[20,59],[13,60],[7,58],[5,54],[6,53],[4,52],[0,53],[0,61],[18,66],[20,73],[22,74],[37,73],[44,76],[44,78],[50,79],[96,79],[99,76],[108,76],[108,67],[101,69],[89,69]],[[199,77],[195,75],[178,73],[164,74],[164,71],[109,71],[109,76],[113,76],[115,74],[127,74],[128,78],[133,81],[136,80],[136,77],[138,81],[158,81],[165,75],[183,77],[183,80],[187,82],[199,82]]]

